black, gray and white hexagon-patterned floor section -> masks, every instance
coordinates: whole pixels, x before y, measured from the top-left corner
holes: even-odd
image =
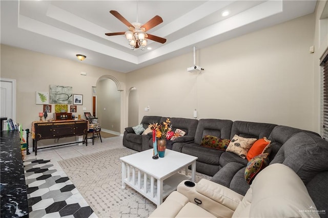
[[[24,161],[30,217],[97,217],[65,172],[50,160]]]

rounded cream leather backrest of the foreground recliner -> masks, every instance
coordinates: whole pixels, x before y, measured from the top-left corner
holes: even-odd
[[[315,211],[306,212],[313,207],[296,173],[272,164],[257,175],[232,217],[319,217]]]

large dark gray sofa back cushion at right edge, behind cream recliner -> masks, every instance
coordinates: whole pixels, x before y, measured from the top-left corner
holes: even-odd
[[[321,171],[328,170],[328,142],[308,132],[294,134],[287,140],[273,163],[292,168],[306,185]]]

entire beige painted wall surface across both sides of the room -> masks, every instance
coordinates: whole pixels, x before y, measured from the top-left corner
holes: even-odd
[[[197,119],[269,122],[319,132],[316,64],[328,47],[328,38],[319,40],[318,14],[324,3],[318,2],[314,14],[197,50],[196,63],[205,69],[198,74],[186,70],[193,63],[192,48],[189,54],[123,74],[1,45],[1,77],[17,81],[16,120],[24,128],[30,128],[42,110],[35,104],[36,91],[48,91],[50,84],[73,86],[73,93],[84,95],[76,115],[83,114],[82,107],[92,111],[92,86],[111,75],[124,90],[121,134],[128,123],[126,90],[132,87],[138,93],[138,123],[144,115],[193,118],[196,108]],[[312,45],[314,54],[309,53]]]

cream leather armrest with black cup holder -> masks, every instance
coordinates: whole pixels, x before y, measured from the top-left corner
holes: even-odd
[[[183,181],[177,191],[217,217],[231,217],[243,199],[241,194],[206,179],[200,180],[194,187],[186,186]]]

